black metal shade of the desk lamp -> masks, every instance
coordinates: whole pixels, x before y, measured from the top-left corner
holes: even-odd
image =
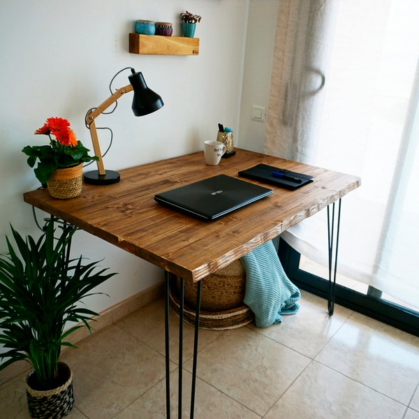
[[[155,91],[149,89],[145,83],[142,73],[128,75],[128,80],[133,86],[133,112],[136,117],[148,115],[163,106],[161,97]]]

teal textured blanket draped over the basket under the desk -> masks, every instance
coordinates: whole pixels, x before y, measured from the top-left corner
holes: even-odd
[[[241,259],[246,271],[244,304],[255,314],[256,326],[281,323],[282,314],[300,309],[300,290],[288,279],[272,241],[260,244]]]

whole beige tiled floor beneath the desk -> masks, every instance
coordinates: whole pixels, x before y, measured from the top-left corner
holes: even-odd
[[[165,418],[163,300],[64,353],[74,372],[69,419]],[[177,317],[171,317],[177,418]],[[193,328],[184,339],[189,418]],[[419,418],[419,338],[302,293],[300,311],[267,329],[200,331],[195,418]],[[0,376],[1,380],[1,376]],[[0,418],[29,418],[24,374],[0,381]]]

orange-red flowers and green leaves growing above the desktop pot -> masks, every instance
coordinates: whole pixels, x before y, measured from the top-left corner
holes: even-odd
[[[50,144],[27,145],[22,149],[22,152],[29,156],[27,162],[31,168],[39,160],[34,173],[41,184],[47,183],[54,170],[98,160],[96,156],[89,156],[89,149],[75,138],[75,133],[70,128],[67,119],[48,118],[35,133],[48,135]],[[52,138],[51,135],[54,135],[55,138]]]

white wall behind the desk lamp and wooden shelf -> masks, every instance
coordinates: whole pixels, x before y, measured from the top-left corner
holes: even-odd
[[[142,71],[165,105],[135,118],[128,94],[114,114],[96,120],[114,131],[106,168],[194,152],[215,137],[219,122],[239,125],[248,1],[0,1],[1,253],[6,253],[8,223],[22,234],[39,235],[31,207],[22,199],[24,191],[39,186],[22,147],[46,143],[34,131],[52,116],[68,119],[78,139],[91,147],[84,115],[109,96],[110,79],[121,68]],[[179,13],[185,8],[203,17],[196,30],[198,57],[128,53],[135,20],[173,22],[179,35]],[[128,84],[128,74],[120,75],[114,87]],[[106,144],[107,134],[99,135]],[[97,311],[163,278],[162,270],[87,233],[77,233],[73,252],[91,260],[105,258],[102,265],[119,272],[101,287],[110,298],[98,296],[90,302]]]

